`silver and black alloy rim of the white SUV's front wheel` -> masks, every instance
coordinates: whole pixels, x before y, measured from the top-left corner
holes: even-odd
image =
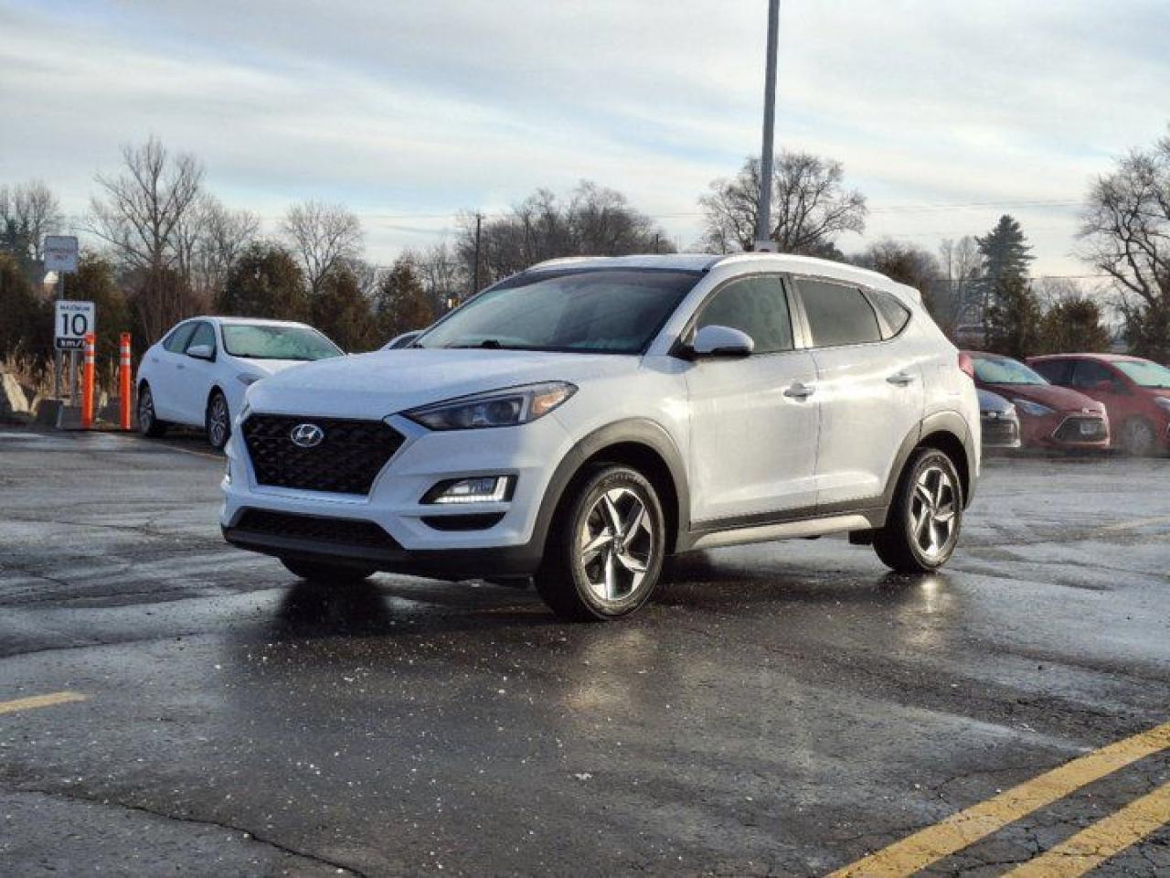
[[[578,546],[585,578],[599,601],[622,601],[642,584],[653,561],[653,528],[646,503],[629,488],[611,488],[593,503]]]

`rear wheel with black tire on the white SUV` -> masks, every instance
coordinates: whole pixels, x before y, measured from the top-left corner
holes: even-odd
[[[937,448],[920,448],[902,471],[874,551],[901,574],[927,574],[955,553],[963,526],[963,482],[955,462]]]

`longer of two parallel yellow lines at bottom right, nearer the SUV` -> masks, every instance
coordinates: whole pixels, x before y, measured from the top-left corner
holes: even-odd
[[[1009,823],[1166,747],[1170,747],[1170,722],[1079,756],[1047,774],[952,814],[941,823],[839,869],[830,878],[894,878],[914,874],[935,860],[949,857],[999,831]]]

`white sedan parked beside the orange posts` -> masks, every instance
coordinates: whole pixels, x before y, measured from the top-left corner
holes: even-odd
[[[183,321],[151,345],[138,365],[138,428],[160,435],[168,424],[202,427],[211,446],[222,448],[250,384],[342,354],[304,323],[242,317]]]

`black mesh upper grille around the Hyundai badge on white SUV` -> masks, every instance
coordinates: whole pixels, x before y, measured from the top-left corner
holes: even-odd
[[[315,424],[324,439],[312,448],[292,443],[301,424]],[[243,439],[256,482],[278,488],[369,494],[373,480],[404,437],[380,420],[345,420],[289,414],[252,414]]]

